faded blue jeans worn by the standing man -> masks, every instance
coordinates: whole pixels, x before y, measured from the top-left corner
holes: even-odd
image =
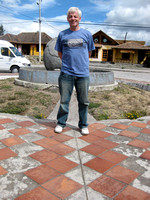
[[[76,77],[61,72],[58,82],[60,92],[60,107],[57,114],[57,124],[62,127],[66,126],[69,113],[69,102],[75,86],[79,112],[78,126],[79,128],[87,127],[89,77]]]

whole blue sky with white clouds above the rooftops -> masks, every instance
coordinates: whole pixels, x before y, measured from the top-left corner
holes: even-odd
[[[37,2],[0,0],[0,24],[5,33],[38,31]],[[150,44],[150,0],[42,0],[42,31],[57,37],[61,30],[68,28],[66,13],[72,6],[82,10],[81,27],[92,34],[102,30],[113,39],[124,39],[127,32],[128,40],[144,40]]]

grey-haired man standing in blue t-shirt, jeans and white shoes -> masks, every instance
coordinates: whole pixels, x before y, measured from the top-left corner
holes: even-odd
[[[70,28],[61,31],[57,38],[55,50],[62,60],[59,76],[60,107],[57,114],[56,133],[61,133],[66,126],[69,113],[69,102],[75,86],[78,100],[79,123],[82,135],[89,134],[88,90],[89,90],[89,57],[95,49],[91,33],[80,28],[82,12],[71,7],[67,12]],[[73,113],[72,113],[73,114]]]

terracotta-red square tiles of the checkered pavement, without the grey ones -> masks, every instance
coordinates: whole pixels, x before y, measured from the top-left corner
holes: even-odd
[[[5,146],[0,149],[0,161],[17,157],[18,154],[10,148],[15,147],[17,149],[18,144],[24,143],[25,141],[21,139],[21,136],[30,134],[31,131],[28,130],[28,127],[36,125],[36,123],[30,120],[17,123],[10,118],[4,118],[0,119],[0,130],[3,131],[5,129],[3,124],[9,123],[15,123],[18,125],[18,128],[8,130],[8,132],[15,135],[14,137],[11,136],[10,138],[0,140]],[[121,132],[118,134],[120,137],[125,136],[132,139],[127,145],[144,149],[145,152],[139,155],[139,157],[150,160],[150,151],[147,150],[150,147],[150,142],[136,139],[140,134],[149,134],[150,129],[146,127],[148,124],[150,124],[150,121],[147,124],[131,121],[129,125],[114,123],[109,127],[120,129]],[[36,133],[45,138],[34,141],[33,144],[39,145],[44,149],[29,155],[32,159],[40,162],[41,165],[24,172],[27,177],[37,182],[39,186],[31,191],[29,189],[23,195],[19,196],[18,194],[18,197],[14,198],[15,200],[63,200],[79,189],[83,189],[83,185],[65,176],[66,172],[80,167],[79,164],[64,157],[66,154],[75,151],[74,148],[63,144],[63,142],[73,138],[73,136],[64,134],[66,131],[71,130],[71,128],[66,127],[63,130],[63,134],[56,134],[54,132],[55,125],[55,123],[41,124],[45,129]],[[140,133],[129,131],[128,128],[131,126],[141,128]],[[141,174],[121,166],[120,163],[128,159],[128,157],[113,150],[113,148],[120,144],[107,140],[113,134],[103,130],[105,128],[107,126],[104,124],[91,124],[89,126],[90,135],[79,137],[90,143],[80,150],[95,156],[83,165],[102,174],[102,176],[89,183],[88,186],[114,200],[149,200],[149,193],[135,188],[135,185],[134,187],[131,186],[132,182],[141,176]],[[0,165],[0,178],[6,176],[8,173],[7,168]]]

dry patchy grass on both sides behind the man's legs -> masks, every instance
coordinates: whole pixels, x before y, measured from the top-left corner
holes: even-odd
[[[0,80],[0,112],[47,118],[59,100],[58,89],[37,90]],[[96,120],[136,119],[150,115],[150,92],[126,84],[112,91],[89,91],[89,113]]]

